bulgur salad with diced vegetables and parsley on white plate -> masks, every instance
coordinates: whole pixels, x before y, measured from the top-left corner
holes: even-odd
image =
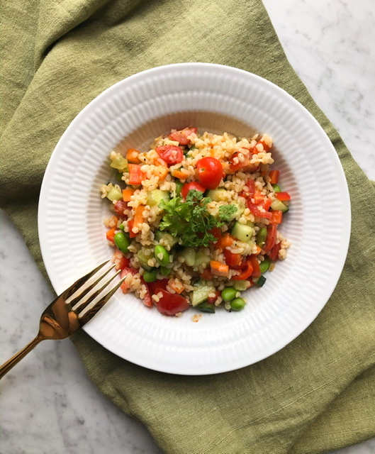
[[[270,170],[268,135],[236,138],[172,130],[150,150],[112,151],[105,219],[124,293],[180,316],[194,306],[240,311],[241,292],[262,287],[289,242],[279,226],[290,196]],[[115,182],[115,178],[117,181]]]

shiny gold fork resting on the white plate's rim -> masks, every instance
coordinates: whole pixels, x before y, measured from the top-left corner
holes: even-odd
[[[109,292],[102,295],[102,292],[108,287],[113,279],[121,272],[119,270],[111,276],[99,289],[96,286],[101,282],[103,277],[108,275],[115,267],[112,265],[105,270],[101,276],[96,277],[96,273],[101,270],[109,262],[103,262],[91,272],[87,273],[65,292],[62,292],[52,303],[47,306],[43,314],[40,316],[38,335],[14,355],[10,360],[4,362],[0,367],[0,379],[11,370],[22,358],[24,358],[35,345],[46,339],[65,339],[75,333],[79,328],[82,328],[85,323],[91,320],[94,315],[106,304],[108,299],[116,292],[123,283],[123,279],[118,282]],[[94,280],[94,282],[92,282]],[[87,285],[88,287],[85,287]],[[95,301],[96,298],[99,299]],[[90,304],[92,303],[92,306]]]

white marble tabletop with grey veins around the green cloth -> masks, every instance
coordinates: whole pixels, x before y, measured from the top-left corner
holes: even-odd
[[[366,175],[375,179],[374,2],[264,4],[296,72]],[[35,336],[36,314],[52,295],[20,234],[4,215],[0,223],[2,362]],[[140,423],[91,384],[69,341],[38,345],[1,381],[1,393],[4,454],[161,453]],[[374,454],[375,439],[338,453]]]

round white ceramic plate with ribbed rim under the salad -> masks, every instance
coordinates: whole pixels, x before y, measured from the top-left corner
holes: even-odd
[[[206,375],[267,358],[315,319],[335,289],[347,255],[350,206],[335,149],[313,116],[265,79],[232,67],[186,63],[135,74],[107,89],[74,119],[47,166],[39,204],[43,260],[57,293],[111,257],[99,187],[110,175],[108,153],[148,150],[171,128],[274,140],[281,186],[291,210],[281,231],[288,258],[250,289],[243,311],[194,309],[162,316],[133,295],[118,292],[84,330],[121,358],[162,372]]]

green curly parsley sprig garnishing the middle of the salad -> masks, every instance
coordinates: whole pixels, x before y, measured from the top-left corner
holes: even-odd
[[[159,229],[181,238],[186,247],[208,246],[216,240],[210,231],[230,221],[237,211],[235,205],[223,205],[219,207],[216,218],[207,211],[210,202],[209,197],[204,197],[202,192],[195,190],[189,191],[186,201],[179,196],[169,201],[162,200],[159,206],[164,209],[164,216]]]

